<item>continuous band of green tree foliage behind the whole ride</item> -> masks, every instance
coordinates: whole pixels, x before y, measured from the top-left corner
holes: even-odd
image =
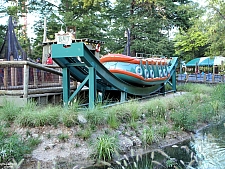
[[[47,0],[18,0],[18,5],[8,7],[7,13],[18,19],[26,13],[39,14],[34,25],[32,57],[42,55],[46,17],[50,40],[61,28],[65,31],[72,26],[78,39],[105,41],[102,54],[123,53],[127,45],[124,32],[129,29],[132,56],[176,54],[189,60],[224,55],[225,5],[223,0],[208,2],[210,13],[206,20],[202,17],[205,11],[189,0],[116,0],[114,4],[110,0],[61,0],[57,5]],[[179,33],[171,40],[174,29]],[[28,40],[20,41],[24,47],[30,45]]]

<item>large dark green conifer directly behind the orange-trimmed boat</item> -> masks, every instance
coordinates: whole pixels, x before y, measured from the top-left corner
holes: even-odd
[[[195,7],[186,3],[189,2],[117,0],[109,29],[111,39],[116,41],[114,45],[110,44],[111,49],[123,50],[122,47],[126,46],[123,32],[130,28],[132,56],[136,53],[172,56],[174,49],[169,37],[170,30],[179,27],[186,31],[193,24],[190,16],[196,14]]]

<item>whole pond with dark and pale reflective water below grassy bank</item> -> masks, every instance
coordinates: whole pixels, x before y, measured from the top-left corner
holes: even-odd
[[[225,121],[204,128],[191,140],[166,147],[161,152],[155,151],[154,157],[152,155],[152,153],[143,155],[138,162],[135,158],[128,160],[127,166],[121,161],[120,165],[111,168],[135,169],[133,162],[136,162],[138,169],[225,169]],[[170,158],[165,158],[166,155]]]

